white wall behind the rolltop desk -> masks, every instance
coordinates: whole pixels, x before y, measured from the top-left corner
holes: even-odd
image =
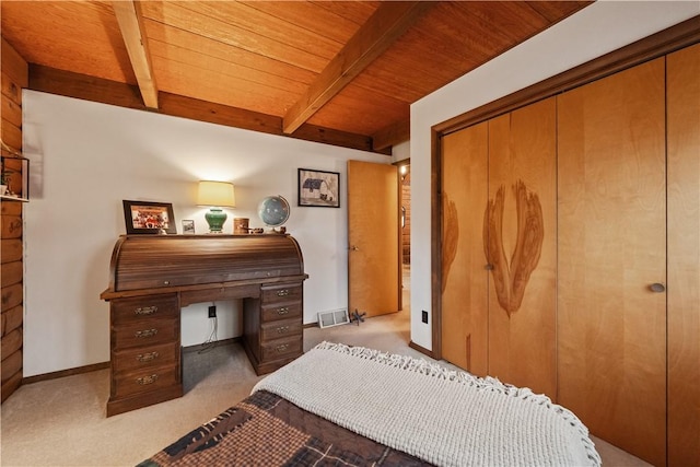
[[[304,254],[304,323],[347,307],[346,165],[389,157],[290,138],[167,117],[33,91],[23,96],[24,153],[31,201],[24,207],[24,376],[109,360],[112,249],[126,233],[121,200],[172,202],[180,220],[208,231],[196,202],[197,180],[235,184],[233,217],[262,226],[257,205],[268,195],[290,202],[288,232]],[[296,170],[340,172],[340,209],[296,207]],[[183,310],[183,346],[211,331],[209,304]],[[219,339],[241,334],[240,303],[218,305]]]

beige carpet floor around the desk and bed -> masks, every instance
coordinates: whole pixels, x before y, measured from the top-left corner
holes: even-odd
[[[407,311],[304,331],[304,348],[323,340],[425,358],[408,347]],[[257,381],[240,345],[184,357],[182,398],[105,417],[109,371],[20,387],[1,407],[2,466],[132,466],[246,397]],[[648,464],[594,439],[606,466]]]

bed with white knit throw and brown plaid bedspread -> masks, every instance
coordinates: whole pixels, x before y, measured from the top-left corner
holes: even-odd
[[[585,425],[527,388],[322,342],[139,464],[599,466]]]

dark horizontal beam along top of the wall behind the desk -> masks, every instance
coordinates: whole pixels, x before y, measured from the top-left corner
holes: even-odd
[[[30,63],[28,89],[83,101],[147,110],[135,85]],[[304,124],[294,135],[282,131],[282,117],[161,92],[159,114],[208,121],[268,135],[302,139],[341,148],[372,151],[372,139],[331,128]],[[384,154],[383,151],[375,151]]]

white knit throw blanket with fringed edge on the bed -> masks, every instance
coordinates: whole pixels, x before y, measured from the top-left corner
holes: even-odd
[[[422,359],[323,342],[261,389],[435,465],[600,465],[588,430],[548,397]]]

